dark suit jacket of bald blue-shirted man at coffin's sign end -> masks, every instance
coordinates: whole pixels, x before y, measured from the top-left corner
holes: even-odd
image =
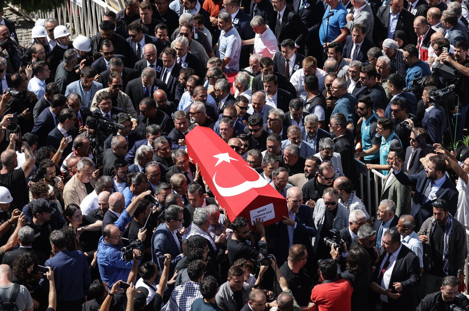
[[[300,209],[295,214],[296,229],[293,231],[293,244],[303,244],[306,246],[308,253],[313,251],[310,238],[316,235],[316,226],[313,221],[313,214],[308,205],[302,204]],[[274,256],[277,259],[278,265],[283,265],[288,258],[288,228],[287,225],[281,221],[277,224],[272,224],[269,233],[275,237],[273,245]],[[313,258],[311,258],[312,260]]]

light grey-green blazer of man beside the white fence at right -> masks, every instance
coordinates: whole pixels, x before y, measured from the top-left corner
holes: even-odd
[[[408,174],[405,167],[402,167],[402,169],[405,174]],[[391,168],[391,171],[386,175],[383,183],[381,200],[393,200],[396,204],[396,216],[401,217],[401,215],[410,214],[410,192],[412,191],[412,187],[401,184],[393,175],[393,168]],[[393,180],[391,180],[389,184],[386,184],[389,178],[393,178]]]

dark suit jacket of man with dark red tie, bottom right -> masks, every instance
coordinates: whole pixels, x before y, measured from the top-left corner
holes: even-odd
[[[389,254],[385,254],[384,248],[381,248],[379,252],[379,262],[376,264],[378,267],[375,271],[374,281],[378,280],[378,273],[381,272],[379,267],[383,263],[384,258],[387,258]],[[399,254],[397,255],[396,261],[394,262],[393,272],[391,273],[391,279],[389,281],[389,287],[394,294],[397,293],[393,287],[394,282],[399,282],[402,285],[402,290],[399,292],[401,296],[398,299],[388,299],[390,310],[402,310],[402,311],[413,311],[416,308],[414,305],[414,293],[415,288],[420,283],[420,264],[416,254],[402,245]],[[380,284],[378,284],[380,285]]]

